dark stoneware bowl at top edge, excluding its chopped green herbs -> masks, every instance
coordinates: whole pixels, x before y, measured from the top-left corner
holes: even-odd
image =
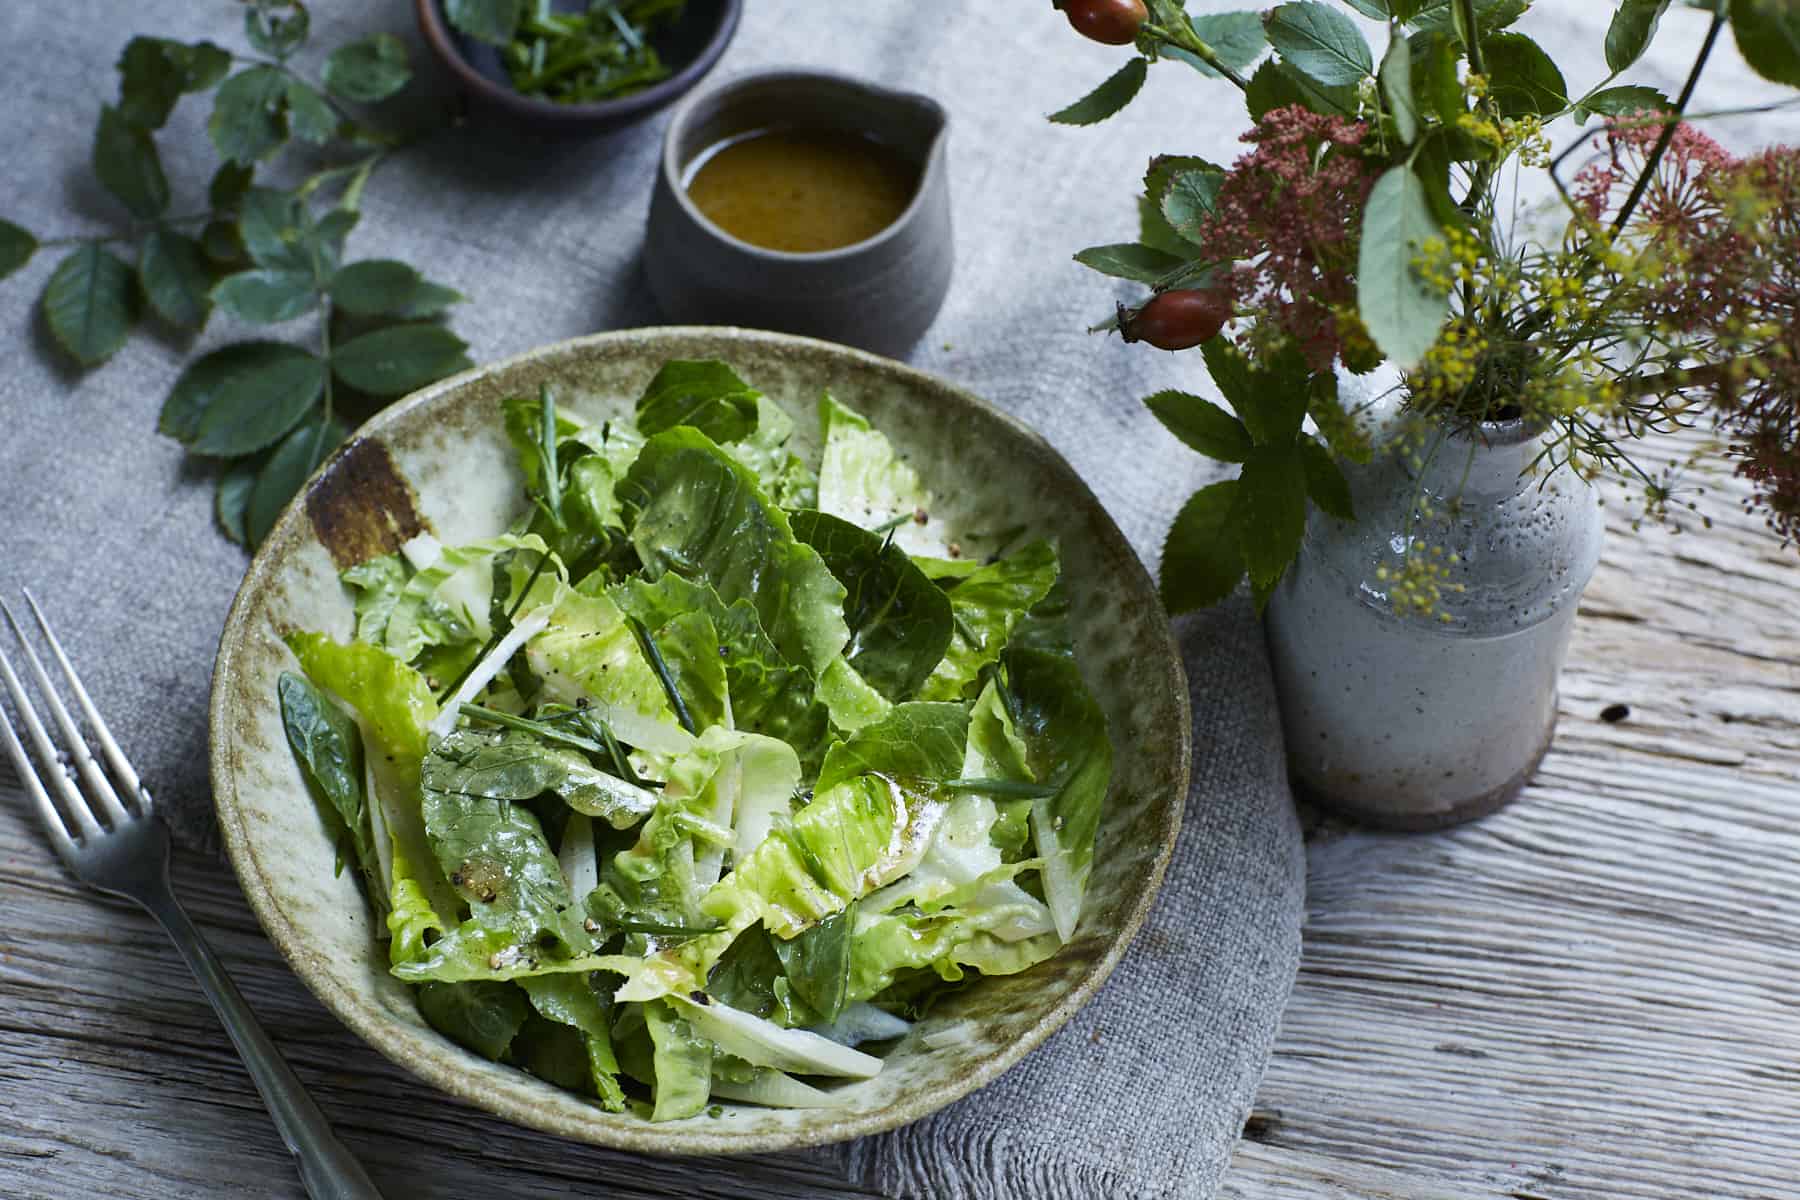
[[[558,7],[585,7],[585,2]],[[520,95],[506,77],[500,52],[454,29],[445,20],[443,0],[414,0],[414,9],[425,43],[472,99],[538,131],[578,135],[628,126],[700,83],[738,32],[743,0],[689,0],[677,22],[650,38],[673,74],[643,92],[598,104],[558,104]]]

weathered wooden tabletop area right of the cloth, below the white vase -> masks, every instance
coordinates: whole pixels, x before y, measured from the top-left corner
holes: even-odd
[[[1316,819],[1226,1196],[1800,1196],[1800,556],[1742,495],[1708,480],[1715,527],[1679,534],[1611,497],[1512,808],[1426,837]]]

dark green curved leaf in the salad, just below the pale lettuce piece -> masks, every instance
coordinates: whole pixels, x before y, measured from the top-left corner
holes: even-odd
[[[907,700],[950,644],[950,599],[905,552],[828,513],[794,513],[794,536],[810,545],[848,592],[844,657],[889,700]]]

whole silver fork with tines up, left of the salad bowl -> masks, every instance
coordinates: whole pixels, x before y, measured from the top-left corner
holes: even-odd
[[[326,1124],[324,1114],[319,1112],[288,1063],[283,1061],[275,1043],[256,1022],[250,1006],[238,993],[238,986],[225,973],[223,964],[200,937],[194,923],[187,919],[180,901],[175,900],[175,891],[169,887],[169,831],[157,819],[149,792],[139,783],[131,763],[126,761],[119,743],[106,730],[106,721],[101,720],[88,698],[88,689],[81,685],[76,669],[68,666],[68,657],[56,640],[56,633],[50,631],[50,622],[43,619],[38,601],[32,599],[31,592],[25,592],[25,601],[38,619],[50,657],[56,658],[68,691],[74,693],[76,703],[81,707],[81,716],[86,718],[88,730],[106,756],[106,766],[112,768],[112,779],[108,779],[50,684],[25,630],[20,628],[5,601],[0,601],[0,612],[5,612],[13,635],[25,649],[31,676],[50,709],[50,720],[61,732],[63,750],[74,763],[74,774],[79,775],[79,784],[70,779],[70,772],[58,756],[56,741],[50,739],[36,709],[31,707],[25,687],[13,673],[5,651],[0,651],[0,682],[5,684],[13,707],[25,725],[25,736],[38,756],[41,774],[32,770],[31,757],[20,745],[18,734],[13,732],[5,709],[0,709],[0,741],[5,743],[7,756],[18,766],[20,783],[38,806],[43,831],[50,837],[58,858],[83,883],[135,900],[157,918],[175,941],[182,957],[187,959],[189,970],[194,972],[194,979],[200,981],[200,990],[212,1002],[212,1011],[225,1024],[225,1033],[230,1034],[232,1045],[243,1056],[245,1067],[250,1069],[250,1079],[263,1094],[263,1103],[268,1105],[268,1114],[275,1119],[281,1139],[299,1160],[306,1195],[313,1200],[380,1200],[382,1193],[376,1191],[349,1148]],[[119,799],[113,781],[124,790],[130,804]],[[61,801],[61,808],[50,799],[52,792],[56,801]]]

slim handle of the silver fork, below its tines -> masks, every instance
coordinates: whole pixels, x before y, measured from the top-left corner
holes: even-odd
[[[306,1094],[299,1076],[288,1067],[281,1051],[270,1042],[263,1025],[257,1024],[250,1006],[245,1004],[238,984],[225,973],[225,966],[212,954],[212,948],[187,918],[187,910],[164,885],[157,894],[140,898],[153,918],[167,930],[175,946],[187,959],[189,970],[200,981],[200,990],[212,1002],[212,1011],[220,1015],[225,1033],[250,1070],[256,1090],[268,1105],[268,1115],[281,1130],[281,1141],[288,1144],[301,1168],[301,1182],[311,1200],[382,1200],[369,1173],[337,1139],[319,1105]]]

